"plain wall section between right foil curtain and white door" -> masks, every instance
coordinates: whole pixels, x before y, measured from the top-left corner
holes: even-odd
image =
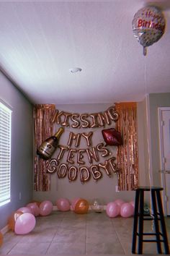
[[[170,93],[151,93],[138,103],[140,186],[161,186],[158,107],[168,106],[170,106]],[[150,202],[150,199],[151,195],[148,192],[146,193],[146,201]]]

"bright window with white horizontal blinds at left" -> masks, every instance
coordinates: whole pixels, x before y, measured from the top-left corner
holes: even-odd
[[[12,110],[0,102],[0,206],[10,202]]]

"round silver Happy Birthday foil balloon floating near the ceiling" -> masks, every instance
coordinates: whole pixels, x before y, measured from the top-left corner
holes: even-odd
[[[144,7],[136,12],[133,18],[133,35],[143,46],[144,56],[146,47],[156,43],[164,34],[165,25],[164,14],[157,7]]]

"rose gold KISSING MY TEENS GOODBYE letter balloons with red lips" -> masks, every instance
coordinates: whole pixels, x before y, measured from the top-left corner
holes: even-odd
[[[103,113],[93,114],[71,114],[56,110],[53,116],[53,123],[56,122],[56,124],[71,128],[92,129],[105,127],[105,125],[110,125],[112,121],[116,122],[118,119],[119,113],[116,111],[115,106],[111,106]],[[106,147],[107,145],[122,145],[120,132],[117,132],[115,128],[102,130],[101,133],[105,143],[100,142],[96,146],[92,146],[93,133],[74,133],[70,131],[67,145],[58,145],[56,158],[47,161],[47,173],[53,174],[57,172],[58,179],[68,176],[69,182],[76,181],[79,176],[82,184],[88,182],[91,177],[97,182],[104,173],[109,177],[112,176],[112,173],[119,173],[120,168],[115,163],[116,158]],[[80,148],[81,140],[86,144],[87,148]],[[112,156],[99,163],[100,157],[106,158],[109,155]],[[63,158],[66,163],[60,163]],[[89,162],[87,166],[86,161]]]

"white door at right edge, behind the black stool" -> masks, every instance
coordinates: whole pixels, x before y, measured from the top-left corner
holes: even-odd
[[[170,216],[170,107],[158,108],[164,213]]]

